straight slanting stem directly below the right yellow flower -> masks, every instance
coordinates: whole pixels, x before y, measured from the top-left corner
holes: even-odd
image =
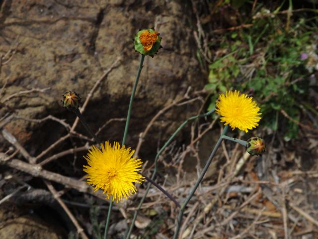
[[[210,157],[208,159],[208,161],[206,162],[198,180],[196,181],[194,187],[192,188],[190,194],[188,195],[188,197],[185,199],[184,203],[182,204],[181,208],[180,208],[180,212],[179,212],[179,216],[178,216],[178,221],[177,221],[177,226],[175,228],[175,231],[174,231],[174,235],[173,235],[173,239],[177,239],[178,238],[178,235],[179,235],[179,231],[180,231],[180,226],[181,226],[181,222],[182,222],[182,217],[183,217],[183,211],[184,209],[186,208],[187,204],[189,203],[190,199],[192,198],[194,192],[196,191],[196,189],[199,187],[199,184],[201,183],[205,173],[208,171],[208,168],[212,162],[212,159],[215,155],[215,153],[217,152],[219,146],[221,145],[222,143],[222,136],[225,135],[228,131],[228,127],[229,125],[226,125],[223,129],[223,132],[221,133],[220,135],[220,138],[217,142],[217,144],[215,145],[214,149],[212,150],[212,153],[210,154]]]

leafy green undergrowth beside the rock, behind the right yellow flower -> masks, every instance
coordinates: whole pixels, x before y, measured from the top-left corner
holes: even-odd
[[[276,9],[278,11],[278,9]],[[211,93],[209,110],[220,92],[238,89],[252,95],[262,112],[262,126],[279,127],[285,140],[297,137],[298,125],[286,119],[281,111],[296,121],[309,99],[308,80],[315,71],[303,53],[317,55],[318,17],[310,21],[294,14],[287,29],[286,14],[275,14],[258,7],[254,17],[244,24],[250,27],[228,31],[212,46],[218,51],[209,66],[206,89]],[[294,17],[294,18],[293,18]]]

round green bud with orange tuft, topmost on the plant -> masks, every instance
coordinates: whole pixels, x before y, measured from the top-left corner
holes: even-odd
[[[134,48],[140,54],[154,57],[159,48],[162,48],[161,37],[155,29],[140,30],[134,39]]]

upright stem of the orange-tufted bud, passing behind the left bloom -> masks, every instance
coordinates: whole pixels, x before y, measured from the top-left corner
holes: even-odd
[[[124,130],[124,136],[123,136],[123,141],[122,141],[121,145],[124,145],[126,143],[131,110],[133,108],[133,101],[134,101],[134,97],[135,97],[135,93],[136,93],[136,89],[137,89],[137,84],[138,84],[138,81],[139,81],[140,73],[141,73],[141,70],[143,69],[144,59],[145,59],[145,56],[141,55],[138,72],[137,72],[135,83],[134,83],[134,86],[133,86],[133,91],[132,91],[131,96],[130,96],[130,102],[129,102],[128,112],[127,112],[127,119],[126,119],[126,125],[125,125],[125,130]],[[112,207],[113,207],[113,201],[112,201],[112,197],[111,197],[109,208],[108,208],[106,225],[105,225],[104,239],[107,239],[107,232],[108,232],[108,226],[109,226],[109,221],[110,221],[110,215],[111,215]]]

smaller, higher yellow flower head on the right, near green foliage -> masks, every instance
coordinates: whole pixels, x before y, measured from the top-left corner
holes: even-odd
[[[252,97],[240,95],[239,91],[220,94],[215,106],[215,112],[221,116],[221,122],[230,124],[232,129],[239,128],[247,132],[247,129],[258,126],[257,122],[261,119],[261,113],[258,113],[260,108],[252,101]]]

